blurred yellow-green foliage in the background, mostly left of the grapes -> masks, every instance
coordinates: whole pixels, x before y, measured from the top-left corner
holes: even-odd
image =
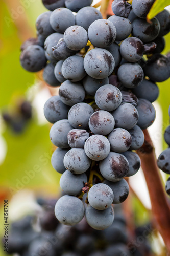
[[[2,0],[1,1],[1,111],[13,113],[19,99],[28,99],[33,104],[33,118],[27,123],[22,133],[14,133],[1,118],[0,124],[0,200],[1,218],[3,223],[4,199],[11,200],[18,191],[34,191],[36,196],[57,197],[60,193],[60,175],[51,165],[51,155],[54,147],[49,139],[50,124],[42,121],[42,110],[38,111],[38,104],[44,100],[43,93],[48,91],[55,94],[56,89],[47,89],[42,81],[42,73],[32,74],[20,67],[20,45],[29,37],[36,36],[35,21],[38,15],[47,11],[41,0]],[[166,47],[163,54],[170,51],[170,33],[165,36]],[[163,113],[162,137],[169,123],[168,107],[169,79],[159,83],[160,96],[158,102]],[[39,95],[39,97],[38,97]],[[38,102],[36,102],[38,99]],[[43,108],[40,104],[39,108]],[[163,148],[167,145],[163,142]],[[31,172],[32,171],[32,172]],[[27,200],[27,197],[25,198]],[[16,208],[22,208],[16,205]],[[135,203],[138,209],[138,219],[145,218],[147,211]],[[29,209],[30,211],[32,209]],[[20,212],[22,215],[22,212]],[[10,212],[9,212],[10,216]],[[148,215],[147,215],[148,216]],[[10,216],[11,219],[17,216]],[[147,218],[147,217],[146,217]],[[2,225],[1,225],[2,226]],[[2,229],[0,235],[2,234]],[[0,254],[3,255],[3,252]]]

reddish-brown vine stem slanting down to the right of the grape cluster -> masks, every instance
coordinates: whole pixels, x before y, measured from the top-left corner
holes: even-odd
[[[144,144],[137,150],[137,153],[140,156],[141,167],[149,189],[157,229],[170,253],[170,207],[161,182],[152,140],[147,130],[144,130],[143,133],[145,136]]]

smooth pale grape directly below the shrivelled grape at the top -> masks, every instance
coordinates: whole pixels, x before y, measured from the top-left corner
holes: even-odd
[[[130,35],[132,31],[132,24],[129,19],[113,15],[110,16],[108,20],[112,22],[116,28],[115,41],[122,41]]]

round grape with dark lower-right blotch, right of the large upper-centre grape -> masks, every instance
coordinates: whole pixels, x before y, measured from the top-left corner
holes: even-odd
[[[117,76],[124,87],[134,88],[143,81],[144,73],[138,63],[124,63],[118,68]]]

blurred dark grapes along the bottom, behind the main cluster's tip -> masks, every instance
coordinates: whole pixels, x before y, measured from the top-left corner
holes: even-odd
[[[41,207],[34,216],[11,223],[8,240],[10,255],[18,256],[145,256],[153,255],[148,237],[151,224],[129,231],[122,209],[115,209],[114,225],[101,232],[85,218],[74,227],[59,223],[54,214],[56,200],[38,198]],[[131,227],[132,228],[132,227]],[[149,231],[149,232],[148,232]],[[144,236],[143,236],[144,234]],[[142,237],[142,244],[138,243]],[[3,244],[3,243],[2,243]]]

